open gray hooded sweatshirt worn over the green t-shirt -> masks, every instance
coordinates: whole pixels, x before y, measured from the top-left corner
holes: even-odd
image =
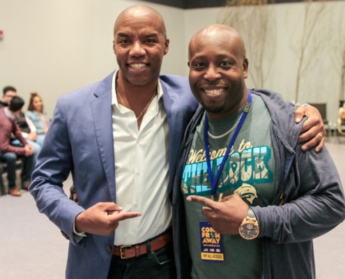
[[[329,232],[345,218],[342,183],[326,147],[302,151],[296,124],[296,107],[279,93],[251,89],[261,96],[272,118],[270,136],[275,154],[275,195],[266,207],[252,206],[263,241],[261,279],[316,278],[312,239]],[[204,109],[199,107],[185,132],[179,153],[173,191],[173,233],[178,278],[190,278],[185,209],[181,173],[187,160],[195,128]],[[303,122],[303,121],[302,121]],[[216,279],[216,278],[214,278]]]

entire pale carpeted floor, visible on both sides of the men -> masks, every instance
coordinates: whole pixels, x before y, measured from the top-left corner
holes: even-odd
[[[345,138],[330,137],[327,146],[345,185]],[[3,179],[6,181],[5,176]],[[70,179],[65,185],[68,192]],[[316,278],[344,278],[344,231],[342,223],[314,240]],[[38,213],[28,192],[22,191],[22,197],[0,197],[1,279],[63,279],[67,249],[68,241],[46,216]]]

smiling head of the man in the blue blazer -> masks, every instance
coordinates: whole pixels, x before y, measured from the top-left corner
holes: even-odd
[[[145,6],[128,8],[114,26],[114,53],[119,77],[134,85],[157,83],[169,49],[162,17]]]

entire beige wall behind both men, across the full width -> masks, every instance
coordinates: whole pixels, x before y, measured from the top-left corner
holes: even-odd
[[[214,22],[221,22],[224,8],[181,10],[154,3],[130,0],[0,0],[0,88],[17,87],[26,102],[31,91],[43,96],[47,112],[52,115],[56,99],[62,94],[98,81],[116,68],[112,52],[112,28],[117,15],[128,6],[144,4],[162,13],[170,38],[170,49],[164,57],[162,73],[185,75],[187,43],[192,35]],[[303,3],[275,5],[271,13],[276,26],[275,55],[268,54],[273,69],[264,84],[294,100],[298,47],[305,12]],[[327,2],[323,20],[324,33],[345,41],[337,27],[345,13],[345,1]],[[344,21],[345,22],[345,21]],[[324,34],[323,34],[324,35]],[[259,38],[245,43],[257,43]],[[323,41],[328,41],[325,39]],[[331,43],[331,39],[329,39]],[[319,44],[319,42],[312,42]],[[335,121],[339,100],[339,75],[332,63],[332,45],[312,57],[302,73],[300,103],[327,103],[328,119]],[[250,70],[256,54],[248,53]],[[247,80],[248,86],[252,80]],[[25,106],[26,107],[26,106]]]

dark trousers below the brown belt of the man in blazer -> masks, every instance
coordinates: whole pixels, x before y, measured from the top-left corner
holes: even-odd
[[[112,256],[107,279],[176,279],[172,241],[160,250],[146,255],[121,259]]]

